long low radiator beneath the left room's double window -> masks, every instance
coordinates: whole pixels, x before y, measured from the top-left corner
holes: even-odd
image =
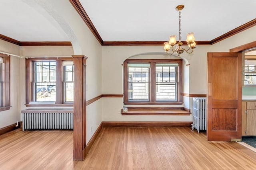
[[[22,130],[73,129],[73,111],[22,111]],[[24,113],[25,112],[25,113]]]

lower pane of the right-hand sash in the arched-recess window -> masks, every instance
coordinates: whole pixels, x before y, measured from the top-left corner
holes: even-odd
[[[177,100],[176,85],[177,83],[157,83],[156,100]]]

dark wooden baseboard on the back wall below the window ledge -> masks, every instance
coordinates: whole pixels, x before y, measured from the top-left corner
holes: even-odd
[[[191,127],[192,121],[102,121],[102,127]]]

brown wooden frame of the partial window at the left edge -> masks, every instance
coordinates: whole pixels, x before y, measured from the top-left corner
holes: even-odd
[[[3,81],[3,106],[0,107],[0,111],[9,110],[10,104],[10,55],[1,54],[0,57],[3,59],[3,66],[1,73],[4,77]]]

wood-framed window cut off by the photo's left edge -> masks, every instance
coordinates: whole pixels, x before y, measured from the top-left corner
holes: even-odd
[[[0,54],[0,111],[10,109],[10,56]]]

